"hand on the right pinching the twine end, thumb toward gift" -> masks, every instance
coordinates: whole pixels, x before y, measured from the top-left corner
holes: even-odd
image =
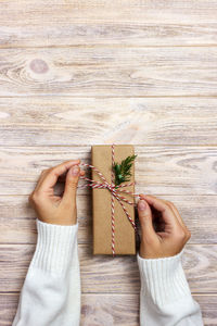
[[[139,254],[143,259],[176,255],[191,237],[177,208],[169,201],[141,193],[138,214],[141,225]]]

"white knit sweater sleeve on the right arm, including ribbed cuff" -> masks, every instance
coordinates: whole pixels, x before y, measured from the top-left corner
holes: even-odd
[[[182,253],[163,259],[143,259],[137,253],[141,326],[203,326],[181,265]]]

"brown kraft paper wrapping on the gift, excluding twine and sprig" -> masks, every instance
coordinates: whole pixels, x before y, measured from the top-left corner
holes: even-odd
[[[114,161],[120,163],[129,155],[135,154],[131,145],[115,145]],[[112,181],[112,146],[97,145],[92,146],[92,165],[95,166],[105,177],[108,184]],[[102,183],[100,176],[92,170],[92,179]],[[135,163],[131,167],[130,180],[124,184],[135,181]],[[135,186],[124,188],[135,192]],[[133,202],[133,197],[128,193],[122,193],[126,199]],[[130,217],[135,221],[135,208],[123,202]],[[112,255],[112,193],[108,189],[92,189],[92,211],[93,211],[93,254]],[[115,204],[115,254],[136,254],[136,234],[135,229],[127,218],[122,205],[114,200]]]

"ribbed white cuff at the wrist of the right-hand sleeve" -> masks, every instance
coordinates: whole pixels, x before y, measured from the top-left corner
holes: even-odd
[[[165,305],[191,296],[181,265],[183,250],[168,258],[143,259],[137,253],[141,276],[141,291],[154,303]]]

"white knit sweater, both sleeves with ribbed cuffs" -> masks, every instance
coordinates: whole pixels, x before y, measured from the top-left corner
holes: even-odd
[[[37,220],[37,228],[36,251],[12,326],[78,326],[78,224],[62,226]],[[200,306],[191,297],[181,266],[181,254],[145,260],[137,253],[141,277],[140,325],[203,325]]]

